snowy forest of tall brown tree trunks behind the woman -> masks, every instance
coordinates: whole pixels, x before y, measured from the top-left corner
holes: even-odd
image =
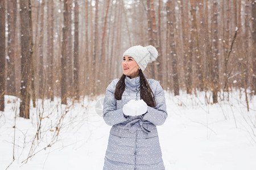
[[[20,97],[29,118],[30,99],[35,107],[103,94],[132,45],[156,46],[145,73],[174,95],[212,91],[212,103],[232,90],[255,95],[255,12],[254,1],[237,0],[2,0],[1,111],[4,95]]]

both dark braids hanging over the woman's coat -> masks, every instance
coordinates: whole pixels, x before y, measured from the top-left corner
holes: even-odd
[[[139,69],[139,83],[141,84],[141,99],[143,99],[148,106],[155,107],[155,96],[141,69]],[[123,91],[125,91],[125,74],[121,76],[117,82],[117,86],[115,86],[115,99],[121,100]]]

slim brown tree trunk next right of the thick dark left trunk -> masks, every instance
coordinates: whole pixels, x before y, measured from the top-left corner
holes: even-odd
[[[44,5],[45,2],[42,0],[41,7],[40,7],[40,33],[39,33],[39,90],[38,90],[38,97],[39,99],[44,99],[44,93],[45,93],[45,84],[44,83]]]

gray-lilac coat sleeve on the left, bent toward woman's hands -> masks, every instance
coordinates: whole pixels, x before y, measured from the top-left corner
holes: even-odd
[[[122,108],[117,109],[117,100],[114,97],[115,84],[114,80],[106,88],[106,96],[103,106],[103,118],[106,124],[113,126],[121,122],[127,121],[123,114]]]

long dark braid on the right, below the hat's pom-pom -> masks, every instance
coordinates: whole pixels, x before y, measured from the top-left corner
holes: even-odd
[[[141,83],[141,99],[143,99],[148,106],[155,107],[154,93],[152,92],[141,69],[139,69],[139,83]]]

